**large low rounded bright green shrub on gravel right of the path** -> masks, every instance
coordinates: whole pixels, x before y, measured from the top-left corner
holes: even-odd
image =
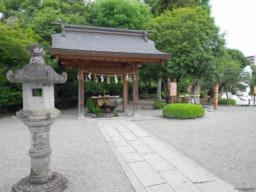
[[[197,104],[174,103],[163,108],[163,115],[169,118],[197,118],[205,114],[204,108]]]

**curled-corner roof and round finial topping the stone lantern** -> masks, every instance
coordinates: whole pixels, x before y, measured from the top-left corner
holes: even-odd
[[[46,54],[45,46],[36,44],[28,47],[31,56],[29,65],[19,69],[14,74],[13,71],[7,72],[7,79],[16,83],[64,83],[67,80],[67,73],[58,75],[51,66],[46,65],[43,58]]]

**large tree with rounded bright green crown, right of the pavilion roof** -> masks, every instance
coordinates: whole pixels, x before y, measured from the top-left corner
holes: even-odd
[[[214,79],[218,74],[224,54],[224,35],[219,34],[214,18],[201,7],[167,10],[146,28],[154,30],[150,39],[158,50],[173,53],[160,67],[165,88],[168,78],[178,83],[184,75]]]

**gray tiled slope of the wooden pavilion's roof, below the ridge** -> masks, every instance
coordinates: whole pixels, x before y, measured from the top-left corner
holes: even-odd
[[[155,48],[154,41],[143,37],[95,35],[94,33],[52,34],[52,48],[117,53],[167,54]]]

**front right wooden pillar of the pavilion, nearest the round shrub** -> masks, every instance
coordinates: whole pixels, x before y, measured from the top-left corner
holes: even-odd
[[[133,65],[133,115],[139,116],[138,66]]]

